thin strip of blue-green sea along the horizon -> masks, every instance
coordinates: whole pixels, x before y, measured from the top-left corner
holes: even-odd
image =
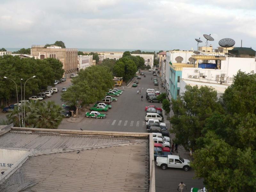
[[[27,47],[24,47],[27,49]],[[21,48],[5,48],[7,51],[18,51]],[[77,48],[78,51],[84,51],[84,52],[125,52],[125,51],[135,51],[138,49],[95,49],[95,48]],[[145,52],[158,52],[160,50],[154,50],[154,49],[139,49],[140,51],[145,51]]]

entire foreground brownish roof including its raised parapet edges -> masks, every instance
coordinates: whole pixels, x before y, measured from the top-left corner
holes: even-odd
[[[4,131],[0,150],[29,153],[0,178],[0,191],[155,191],[154,186],[150,190],[155,178],[150,173],[154,144],[149,133],[18,127]]]

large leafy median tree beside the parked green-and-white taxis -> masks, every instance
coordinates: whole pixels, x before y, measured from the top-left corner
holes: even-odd
[[[79,76],[72,79],[72,86],[61,95],[62,101],[76,106],[76,114],[78,107],[88,106],[102,99],[114,84],[108,67],[96,65],[82,69],[78,74]]]

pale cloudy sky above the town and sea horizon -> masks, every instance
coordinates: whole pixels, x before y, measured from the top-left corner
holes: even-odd
[[[196,50],[211,34],[256,50],[255,0],[1,0],[0,47]]]

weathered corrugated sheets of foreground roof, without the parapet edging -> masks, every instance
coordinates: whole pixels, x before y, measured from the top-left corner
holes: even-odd
[[[8,135],[10,138],[10,133]],[[18,136],[15,138],[17,143],[26,148],[33,146],[47,148],[50,143],[53,144],[49,137],[57,139],[57,144],[53,147],[72,143],[76,143],[76,145],[96,144],[91,138],[76,137],[76,141],[74,141],[74,138],[70,137],[64,139],[66,142],[60,142],[58,137],[63,136],[33,134],[29,137],[26,135],[28,137],[26,142],[22,142],[19,137],[23,137],[25,134],[16,133],[16,135]],[[35,142],[35,136],[38,143]],[[0,137],[0,146],[5,146],[4,143],[7,142],[7,146],[20,148],[19,144],[15,144],[16,141],[7,141],[7,138]],[[32,139],[31,144],[29,144],[29,139]],[[43,141],[44,139],[45,141]],[[108,139],[97,141],[102,142],[102,140]],[[15,173],[19,172],[22,174],[22,179],[14,178],[18,177],[18,174]],[[15,184],[17,180],[22,180],[24,183],[33,182],[30,188],[25,189],[27,192],[148,191],[148,140],[132,142],[126,146],[81,150],[79,153],[72,151],[32,156],[15,173],[4,182],[2,188],[0,186],[0,191],[5,188],[6,192],[13,192],[13,188],[9,190],[8,187]],[[22,182],[19,184],[24,185]]]

